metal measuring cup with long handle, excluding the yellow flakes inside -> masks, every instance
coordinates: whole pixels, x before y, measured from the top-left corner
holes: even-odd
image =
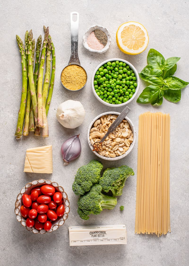
[[[73,15],[77,15],[77,20],[76,21],[73,21]],[[71,30],[71,56],[70,56],[70,59],[69,59],[69,62],[68,62],[67,66],[69,66],[69,65],[78,65],[81,68],[83,68],[83,66],[81,66],[81,64],[80,64],[79,56],[78,56],[78,32],[79,32],[79,13],[78,12],[71,12],[70,13],[70,30]],[[63,68],[63,70],[67,66],[65,66]],[[62,72],[63,72],[63,70],[62,70]],[[85,71],[86,76],[87,76],[87,72],[86,72],[85,69],[84,69],[84,71]],[[61,74],[62,74],[62,72],[61,72]],[[60,81],[61,81],[61,74],[60,74]],[[86,82],[87,82],[87,79],[86,79]],[[85,84],[86,84],[86,82],[85,82]],[[61,84],[62,84],[64,89],[67,89],[63,85],[62,81],[61,81]],[[70,90],[70,89],[67,89],[67,90],[72,91],[72,92],[77,92],[77,91],[83,89],[84,86],[82,88],[78,89],[78,90]]]

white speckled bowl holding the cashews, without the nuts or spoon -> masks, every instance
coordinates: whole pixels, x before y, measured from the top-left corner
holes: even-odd
[[[103,160],[116,161],[116,160],[123,159],[125,156],[127,156],[127,155],[132,151],[132,149],[133,149],[133,147],[134,147],[134,144],[135,144],[135,141],[136,141],[136,130],[135,130],[135,127],[134,127],[133,122],[132,122],[128,117],[125,117],[125,119],[126,119],[126,120],[128,121],[128,123],[129,123],[129,125],[130,125],[130,129],[132,130],[132,133],[133,133],[133,142],[131,143],[129,149],[128,149],[124,154],[122,154],[122,155],[120,155],[120,156],[116,156],[116,157],[114,157],[114,158],[109,158],[109,157],[105,157],[105,156],[102,156],[102,155],[98,154],[98,152],[93,151],[93,146],[92,146],[92,144],[91,144],[91,142],[90,142],[90,139],[89,139],[89,136],[90,136],[90,130],[91,130],[91,128],[92,128],[94,122],[95,122],[97,119],[99,119],[102,115],[109,115],[109,114],[111,114],[111,115],[120,115],[120,113],[118,113],[118,112],[105,112],[105,113],[102,113],[102,114],[100,114],[100,115],[97,115],[97,117],[95,117],[95,118],[92,120],[91,124],[89,125],[88,131],[87,131],[87,140],[88,140],[89,147],[91,148],[92,152],[93,152],[96,156],[98,156],[99,158],[101,158],[101,159],[103,159]]]

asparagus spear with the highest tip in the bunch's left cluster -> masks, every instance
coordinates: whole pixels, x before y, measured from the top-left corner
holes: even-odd
[[[34,74],[33,74],[33,66],[32,66],[32,30],[30,30],[28,34],[28,79],[30,84],[30,93],[31,93],[31,101],[32,107],[34,111],[34,119],[35,125],[38,126],[38,108],[37,108],[37,97],[35,93],[35,85],[34,85]]]

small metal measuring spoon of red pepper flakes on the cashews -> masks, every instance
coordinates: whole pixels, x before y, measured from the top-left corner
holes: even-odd
[[[121,112],[121,114],[116,118],[116,120],[111,124],[108,128],[108,132],[104,135],[100,142],[96,142],[93,144],[93,151],[101,151],[102,150],[102,142],[108,137],[108,135],[114,131],[114,129],[121,123],[121,121],[126,117],[126,115],[130,112],[130,108],[128,106]]]

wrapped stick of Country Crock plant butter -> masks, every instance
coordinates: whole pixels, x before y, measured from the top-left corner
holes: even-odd
[[[69,226],[69,245],[127,244],[125,225]]]

